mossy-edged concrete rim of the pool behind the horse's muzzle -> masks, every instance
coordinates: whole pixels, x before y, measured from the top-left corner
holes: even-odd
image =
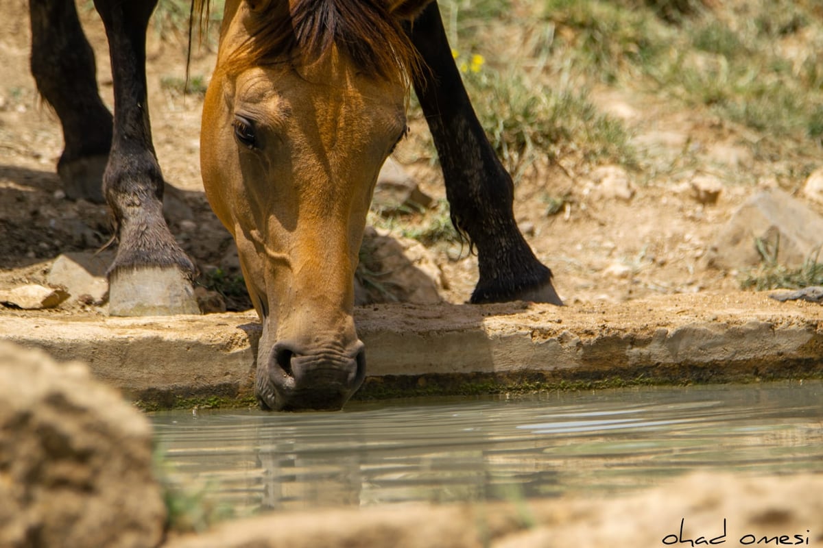
[[[823,378],[823,306],[767,293],[620,304],[358,308],[355,398]],[[88,363],[144,408],[253,404],[253,312],[114,318],[0,315],[0,339]]]

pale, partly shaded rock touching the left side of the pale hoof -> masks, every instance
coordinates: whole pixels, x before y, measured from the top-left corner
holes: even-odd
[[[106,270],[113,260],[112,251],[64,253],[54,260],[46,280],[53,286],[66,288],[71,301],[101,305],[109,292]]]

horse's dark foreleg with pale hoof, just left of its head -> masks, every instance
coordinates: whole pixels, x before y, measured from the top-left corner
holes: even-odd
[[[198,314],[194,266],[163,218],[163,175],[146,103],[146,28],[157,0],[95,0],[109,37],[114,136],[103,177],[119,246],[109,268],[110,315]]]

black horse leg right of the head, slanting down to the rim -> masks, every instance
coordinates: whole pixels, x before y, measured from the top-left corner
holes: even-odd
[[[551,270],[537,260],[514,221],[514,184],[474,113],[437,2],[425,8],[408,34],[425,63],[415,90],[443,168],[452,222],[477,246],[480,280],[472,302],[562,305]]]

